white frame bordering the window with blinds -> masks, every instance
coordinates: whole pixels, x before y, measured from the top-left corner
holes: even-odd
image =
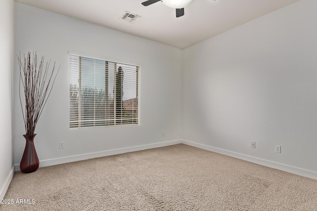
[[[71,77],[70,77],[70,59],[71,56],[79,56],[79,57],[85,57],[88,59],[96,59],[96,60],[103,60],[105,62],[111,62],[111,63],[119,63],[119,64],[124,64],[124,65],[131,65],[131,66],[136,66],[138,73],[137,73],[137,89],[136,89],[136,98],[137,98],[137,123],[136,124],[113,124],[113,125],[105,125],[105,126],[86,126],[86,127],[71,127],[70,126],[70,85],[71,85]],[[99,127],[128,127],[128,126],[140,126],[141,125],[141,120],[140,120],[140,69],[141,69],[141,64],[139,62],[131,62],[131,61],[126,61],[123,59],[115,59],[115,58],[109,58],[109,57],[103,57],[103,56],[96,56],[92,54],[87,54],[87,53],[82,53],[82,52],[77,52],[77,51],[69,51],[68,52],[68,128],[69,130],[76,130],[76,129],[89,129],[89,128],[99,128]],[[113,96],[114,97],[114,96]],[[114,101],[115,102],[115,101]],[[114,105],[115,108],[115,105]],[[113,110],[114,113],[116,113],[115,110]],[[94,121],[96,119],[94,118]],[[114,123],[116,120],[114,119]],[[78,123],[80,125],[80,123]]]

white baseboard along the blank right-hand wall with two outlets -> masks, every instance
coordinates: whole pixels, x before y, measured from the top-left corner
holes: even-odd
[[[196,142],[192,142],[192,141],[183,140],[182,143],[189,145],[189,146],[197,147],[200,149],[205,149],[205,150],[208,150],[211,152],[216,152],[219,154],[238,158],[238,159],[241,159],[244,161],[249,161],[249,162],[259,164],[262,166],[266,166],[266,167],[270,167],[273,169],[279,169],[279,170],[287,171],[287,172],[294,173],[294,174],[297,174],[300,176],[305,176],[305,177],[309,177],[312,179],[317,179],[317,172],[316,171],[301,169],[298,167],[293,167],[293,166],[289,166],[289,165],[285,165],[285,164],[281,164],[281,163],[277,163],[277,162],[273,162],[273,161],[269,161],[269,160],[265,160],[265,159],[261,159],[261,158],[257,158],[257,157],[229,151],[229,150],[224,150],[224,149],[220,149],[220,148],[216,148],[216,147],[212,147],[212,146],[208,146],[205,144],[200,144],[200,143],[196,143]]]

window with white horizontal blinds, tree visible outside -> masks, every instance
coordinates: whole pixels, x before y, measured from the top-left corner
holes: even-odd
[[[69,127],[138,125],[139,67],[70,55]]]

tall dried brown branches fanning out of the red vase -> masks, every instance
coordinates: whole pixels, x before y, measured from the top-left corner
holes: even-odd
[[[33,135],[43,108],[51,94],[59,68],[57,72],[54,71],[54,62],[53,70],[49,71],[51,61],[49,63],[47,62],[45,66],[44,56],[42,56],[41,62],[39,66],[37,66],[36,52],[33,53],[32,60],[30,52],[28,52],[27,57],[23,55],[23,60],[21,58],[21,53],[20,55],[17,55],[17,57],[20,68],[19,96],[25,131],[27,135]],[[21,84],[25,96],[24,106],[21,99]]]

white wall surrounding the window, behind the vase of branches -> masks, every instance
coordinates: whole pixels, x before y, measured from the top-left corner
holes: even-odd
[[[24,4],[15,3],[15,6],[16,52],[37,51],[38,56],[44,55],[61,65],[36,128],[35,145],[40,167],[107,155],[97,152],[173,141],[181,137],[180,49]],[[140,126],[69,130],[69,50],[141,66]],[[15,87],[18,86],[17,73],[16,69]],[[17,91],[14,93],[14,113],[14,162],[19,164],[25,131]],[[164,137],[161,135],[163,130],[166,133]],[[64,149],[59,149],[59,141],[64,142]],[[145,148],[155,146],[159,145]],[[86,155],[89,153],[93,154]],[[85,156],[64,158],[83,154]],[[58,158],[62,159],[54,160]]]

